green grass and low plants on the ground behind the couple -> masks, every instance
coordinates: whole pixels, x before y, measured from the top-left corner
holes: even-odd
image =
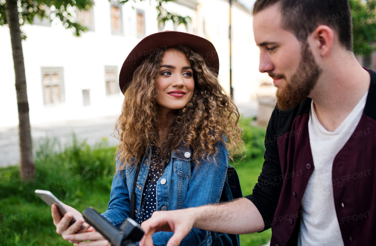
[[[236,165],[243,196],[252,193],[264,160],[264,146],[258,141],[263,141],[265,130],[249,123],[242,122],[247,157]],[[34,194],[35,189],[51,191],[78,211],[88,206],[99,212],[107,208],[115,147],[104,140],[94,147],[74,141],[63,148],[53,139],[45,139],[38,146],[35,179],[21,182],[18,167],[0,168],[0,246],[72,245],[56,234],[50,207]],[[241,246],[260,246],[270,237],[270,230],[241,235]]]

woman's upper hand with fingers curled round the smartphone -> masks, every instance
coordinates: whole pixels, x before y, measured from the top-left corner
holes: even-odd
[[[63,203],[64,204],[64,203]],[[72,208],[71,206],[65,205],[67,208],[78,218],[76,222],[74,222],[71,226],[69,223],[73,217],[72,213],[67,212],[64,217],[61,217],[58,207],[53,204],[51,206],[51,214],[53,219],[53,224],[56,226],[56,233],[59,235],[68,235],[74,233],[82,233],[88,231],[92,231],[94,228],[90,228],[90,225],[85,222],[82,217],[82,214],[77,211],[76,209]],[[84,225],[85,229],[80,229],[81,226]],[[64,238],[64,237],[63,237]],[[69,240],[70,243],[78,243],[79,241]]]

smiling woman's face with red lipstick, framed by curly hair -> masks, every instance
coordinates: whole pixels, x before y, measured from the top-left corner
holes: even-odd
[[[164,54],[159,72],[157,103],[160,112],[168,113],[185,107],[194,90],[190,60],[180,50],[169,49]]]

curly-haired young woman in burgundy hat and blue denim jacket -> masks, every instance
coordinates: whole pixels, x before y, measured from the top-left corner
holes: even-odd
[[[102,214],[112,225],[119,227],[127,217],[141,224],[154,211],[241,196],[238,183],[237,190],[228,188],[227,175],[229,150],[243,150],[239,113],[218,82],[218,68],[212,43],[182,32],[152,34],[130,52],[120,71],[125,99],[116,123],[116,173]],[[53,206],[52,214],[64,239],[109,245],[92,228],[74,234],[83,221],[67,228],[69,213],[61,218]],[[171,236],[155,233],[154,245],[166,245]],[[211,244],[239,245],[239,239],[193,228],[180,245]]]

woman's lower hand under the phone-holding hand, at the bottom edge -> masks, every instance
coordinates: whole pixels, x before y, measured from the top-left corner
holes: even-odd
[[[76,241],[80,243],[74,243],[74,246],[111,246],[111,243],[106,240],[99,232],[92,228],[91,232],[84,232],[79,234],[64,235],[63,238],[68,241]],[[92,240],[89,242],[83,242],[86,240]]]

